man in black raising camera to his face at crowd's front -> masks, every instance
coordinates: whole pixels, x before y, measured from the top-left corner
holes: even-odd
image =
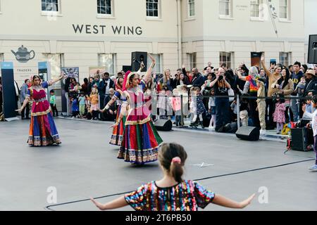
[[[225,77],[225,70],[219,68],[216,72],[216,78],[210,84],[215,89],[216,96],[229,96],[228,90],[231,88]],[[221,128],[230,122],[229,98],[216,97],[216,131],[220,132]]]

